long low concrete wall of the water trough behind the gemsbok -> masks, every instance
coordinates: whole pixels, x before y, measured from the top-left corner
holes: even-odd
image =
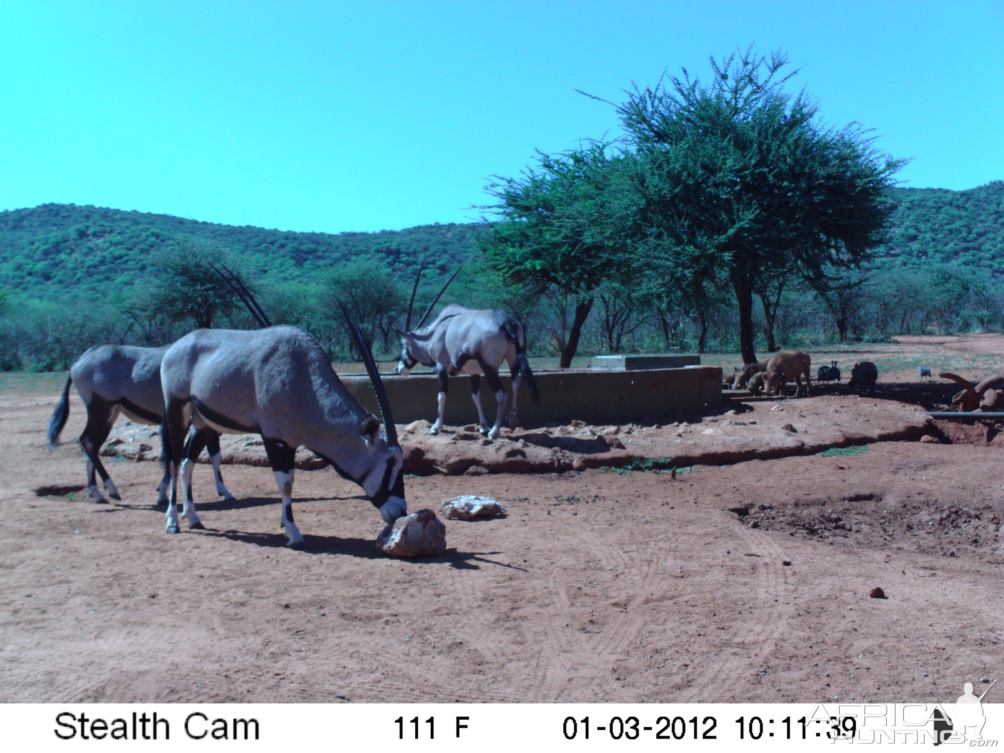
[[[573,419],[592,425],[631,424],[643,419],[695,415],[722,405],[722,369],[688,366],[638,371],[541,371],[535,374],[540,405],[530,400],[526,385],[519,387],[519,416],[525,426],[566,424]],[[376,399],[366,376],[342,376],[349,392],[379,416]],[[383,376],[398,424],[436,420],[439,380],[435,374]],[[511,400],[509,378],[502,384]],[[495,418],[495,397],[481,380],[481,402],[489,422]],[[476,424],[470,378],[452,376],[446,402],[446,424]],[[503,419],[503,426],[507,423]]]

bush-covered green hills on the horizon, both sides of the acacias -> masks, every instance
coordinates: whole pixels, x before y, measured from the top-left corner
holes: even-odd
[[[968,191],[895,189],[899,207],[881,269],[955,263],[1004,276],[1004,181]],[[423,225],[379,233],[291,233],[73,204],[0,212],[0,288],[28,298],[84,299],[144,275],[152,254],[183,244],[223,251],[253,275],[312,280],[366,254],[401,280],[419,264],[449,274],[475,253],[479,225]]]

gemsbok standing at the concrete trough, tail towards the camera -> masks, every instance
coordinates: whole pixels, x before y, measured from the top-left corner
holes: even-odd
[[[395,331],[401,335],[401,361],[398,363],[397,371],[400,374],[407,374],[419,363],[436,369],[440,388],[439,415],[436,423],[429,430],[430,434],[439,434],[443,426],[449,378],[458,373],[471,374],[471,396],[474,399],[474,405],[478,407],[478,422],[481,426],[481,433],[487,435],[489,439],[496,439],[499,436],[499,428],[502,426],[506,401],[505,388],[502,387],[502,380],[499,379],[499,366],[503,360],[508,361],[512,375],[512,407],[509,410],[509,427],[515,428],[519,425],[516,402],[521,378],[530,389],[533,402],[540,402],[537,383],[533,379],[533,371],[530,370],[530,363],[524,352],[523,327],[502,311],[466,308],[456,303],[446,306],[432,323],[423,326],[440,296],[446,291],[447,285],[460,272],[458,269],[433,298],[433,302],[429,304],[429,308],[426,309],[413,330],[411,328],[412,306],[415,304],[415,293],[419,289],[419,280],[422,278],[423,269],[425,269],[425,264],[419,269],[418,277],[415,279],[412,300],[408,304],[408,318],[405,321],[405,328],[402,330],[395,327]],[[498,404],[495,425],[491,429],[488,427],[488,420],[485,418],[485,411],[481,406],[482,374],[484,374],[488,387],[495,394],[495,401]]]

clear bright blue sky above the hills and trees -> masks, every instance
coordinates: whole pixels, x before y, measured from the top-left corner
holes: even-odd
[[[778,47],[904,185],[1004,179],[1004,3],[0,3],[0,209],[232,225],[469,222],[535,150],[615,136],[632,81]]]

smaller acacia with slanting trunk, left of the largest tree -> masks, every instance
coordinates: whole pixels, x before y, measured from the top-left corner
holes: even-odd
[[[483,209],[501,218],[479,239],[488,264],[514,283],[575,301],[560,368],[571,365],[596,289],[622,272],[628,259],[623,157],[608,155],[607,147],[538,153],[536,170],[496,177],[486,189],[498,204]]]

